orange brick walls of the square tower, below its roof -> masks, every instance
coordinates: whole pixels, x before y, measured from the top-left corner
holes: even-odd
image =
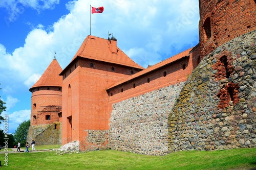
[[[114,68],[114,70],[112,69]],[[62,143],[89,144],[88,130],[107,130],[110,114],[106,88],[139,69],[78,58],[63,73]],[[103,135],[104,136],[104,135]]]

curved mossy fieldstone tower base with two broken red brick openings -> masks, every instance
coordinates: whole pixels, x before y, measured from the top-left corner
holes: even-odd
[[[255,147],[255,59],[255,31],[203,58],[170,112],[170,152]]]

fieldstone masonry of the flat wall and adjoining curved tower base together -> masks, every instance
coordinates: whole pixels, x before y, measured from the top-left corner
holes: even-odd
[[[221,45],[186,82],[114,104],[109,147],[145,155],[255,147],[255,38]]]

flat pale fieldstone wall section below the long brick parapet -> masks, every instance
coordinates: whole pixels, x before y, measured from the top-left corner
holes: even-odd
[[[116,103],[110,119],[109,147],[145,155],[168,152],[167,119],[184,82]]]

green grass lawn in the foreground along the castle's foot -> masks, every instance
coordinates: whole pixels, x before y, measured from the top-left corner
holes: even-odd
[[[121,151],[75,154],[9,153],[8,166],[1,169],[253,169],[256,148],[222,151],[185,151],[166,156],[147,156]]]

